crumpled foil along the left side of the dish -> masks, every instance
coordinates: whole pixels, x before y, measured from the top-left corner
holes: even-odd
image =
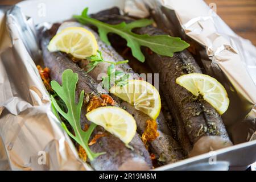
[[[26,19],[14,7],[0,9],[0,169],[85,170],[76,149],[51,111],[34,60],[37,48]],[[36,49],[38,51],[38,49]],[[32,53],[32,54],[31,54]]]

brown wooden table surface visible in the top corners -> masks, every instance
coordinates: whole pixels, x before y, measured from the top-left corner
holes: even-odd
[[[0,5],[13,5],[21,0],[0,0]],[[188,0],[189,1],[189,0]],[[256,0],[205,0],[216,3],[217,14],[240,36],[256,46]]]

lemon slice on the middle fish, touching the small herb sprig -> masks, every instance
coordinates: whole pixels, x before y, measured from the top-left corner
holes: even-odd
[[[146,81],[129,80],[126,85],[110,88],[110,93],[134,105],[135,109],[152,119],[156,119],[160,113],[161,100],[158,90]]]

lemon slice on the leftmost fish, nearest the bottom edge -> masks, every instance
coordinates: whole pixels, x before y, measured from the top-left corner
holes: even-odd
[[[87,113],[86,118],[104,127],[125,144],[131,142],[136,133],[137,126],[133,116],[119,107],[98,107]]]

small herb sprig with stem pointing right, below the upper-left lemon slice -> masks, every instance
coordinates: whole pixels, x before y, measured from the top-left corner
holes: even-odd
[[[86,57],[86,59],[90,61],[90,63],[86,66],[87,69],[88,69],[87,73],[92,71],[97,66],[97,64],[99,64],[101,62],[110,63],[110,64],[114,64],[114,65],[128,63],[128,60],[118,61],[118,62],[106,61],[106,60],[103,59],[102,53],[99,50],[97,50],[96,55]]]

